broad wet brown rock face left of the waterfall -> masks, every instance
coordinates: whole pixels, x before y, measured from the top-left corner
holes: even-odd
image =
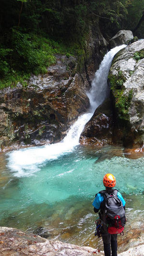
[[[84,74],[74,57],[57,55],[48,73],[31,76],[26,87],[0,90],[0,145],[42,145],[60,141],[87,110]],[[16,144],[17,143],[17,144]]]

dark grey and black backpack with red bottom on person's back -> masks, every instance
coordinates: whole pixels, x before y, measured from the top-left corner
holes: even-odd
[[[100,218],[108,226],[108,233],[118,234],[123,232],[126,222],[125,209],[117,196],[118,190],[113,190],[110,195],[106,190],[102,190],[99,193],[104,196],[104,201],[101,203]]]

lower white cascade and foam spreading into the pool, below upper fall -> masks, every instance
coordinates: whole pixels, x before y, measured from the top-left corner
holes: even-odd
[[[56,159],[60,155],[71,152],[79,144],[79,137],[85,123],[91,118],[92,113],[85,113],[71,126],[66,137],[59,143],[24,148],[8,153],[8,167],[17,177],[29,176],[40,170],[40,166],[47,160]]]

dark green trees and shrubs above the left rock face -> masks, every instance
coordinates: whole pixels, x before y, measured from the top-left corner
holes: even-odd
[[[0,88],[18,81],[26,86],[31,73],[47,72],[55,53],[85,59],[92,24],[100,26],[105,37],[121,28],[134,29],[131,16],[138,23],[143,4],[144,0],[1,0]],[[142,22],[138,36],[143,31],[140,27]]]

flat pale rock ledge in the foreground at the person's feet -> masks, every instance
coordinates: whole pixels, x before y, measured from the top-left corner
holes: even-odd
[[[104,256],[88,246],[49,241],[33,233],[0,227],[0,256]],[[118,256],[144,256],[144,244],[130,248]]]

